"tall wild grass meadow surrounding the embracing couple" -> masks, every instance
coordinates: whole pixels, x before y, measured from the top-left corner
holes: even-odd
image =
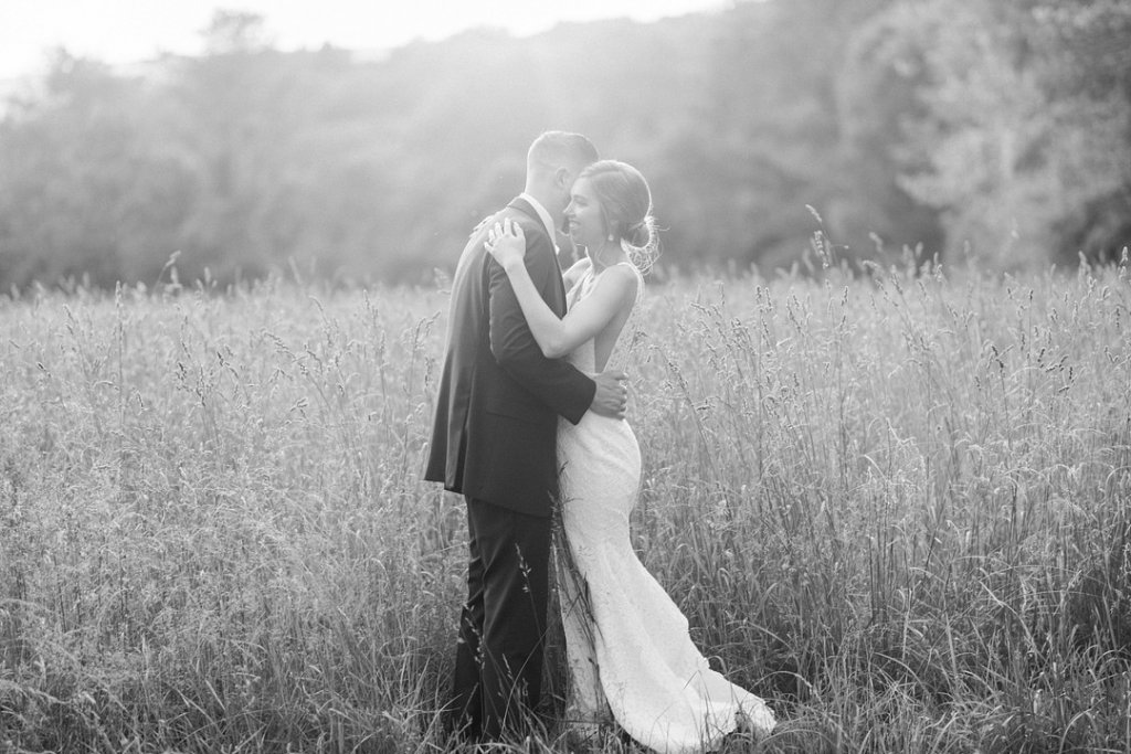
[[[448,751],[444,285],[0,300],[0,751]],[[1131,752],[1126,252],[641,305],[634,546],[783,721],[725,751]]]

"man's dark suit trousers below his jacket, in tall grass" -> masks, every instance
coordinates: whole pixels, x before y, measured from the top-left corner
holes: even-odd
[[[467,601],[459,618],[455,727],[518,733],[542,694],[551,519],[467,497]]]

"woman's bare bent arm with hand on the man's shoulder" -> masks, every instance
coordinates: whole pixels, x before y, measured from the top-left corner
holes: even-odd
[[[526,252],[523,229],[517,224],[511,229],[508,223],[494,235],[495,242],[489,244],[487,250],[507,271],[530,332],[549,358],[571,353],[601,332],[625,304],[636,301],[637,276],[627,267],[614,267],[606,270],[593,293],[578,302],[564,319],[558,319],[538,295],[523,263]]]

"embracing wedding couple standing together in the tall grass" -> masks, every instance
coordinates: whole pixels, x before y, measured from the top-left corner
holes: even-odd
[[[564,275],[554,242],[563,219],[585,249]],[[529,148],[525,191],[459,258],[425,478],[467,504],[450,705],[465,739],[519,733],[538,704],[559,504],[568,717],[578,728],[615,723],[664,754],[774,728],[761,699],[710,669],[629,539],[640,450],[624,421],[620,336],[655,245],[644,176],[599,161],[580,135],[550,131]]]

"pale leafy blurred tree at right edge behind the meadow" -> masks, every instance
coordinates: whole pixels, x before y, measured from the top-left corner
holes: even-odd
[[[941,210],[951,249],[998,269],[1063,258],[1065,224],[1129,175],[1125,97],[1064,89],[1082,70],[1033,5],[930,0],[889,18],[925,68],[900,184]]]

